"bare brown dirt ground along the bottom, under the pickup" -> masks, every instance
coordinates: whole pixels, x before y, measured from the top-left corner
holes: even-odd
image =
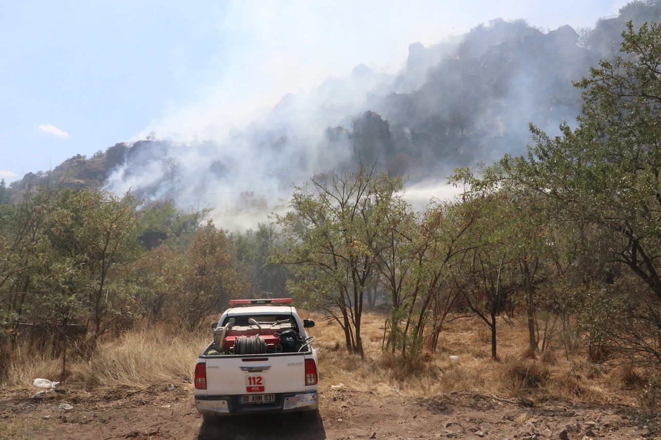
[[[661,439],[658,421],[638,408],[529,406],[533,402],[475,393],[416,400],[326,390],[317,416],[245,416],[210,424],[197,414],[192,393],[179,388],[104,396],[62,392],[43,399],[29,393],[0,394],[1,439]]]

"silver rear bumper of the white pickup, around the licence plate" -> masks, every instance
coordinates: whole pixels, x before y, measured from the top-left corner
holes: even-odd
[[[309,411],[319,408],[319,393],[276,394],[274,404],[240,404],[239,396],[195,396],[195,406],[206,416]]]

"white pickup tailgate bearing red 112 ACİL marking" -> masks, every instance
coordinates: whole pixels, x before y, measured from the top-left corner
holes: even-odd
[[[270,394],[305,391],[305,354],[206,358],[207,394]]]

